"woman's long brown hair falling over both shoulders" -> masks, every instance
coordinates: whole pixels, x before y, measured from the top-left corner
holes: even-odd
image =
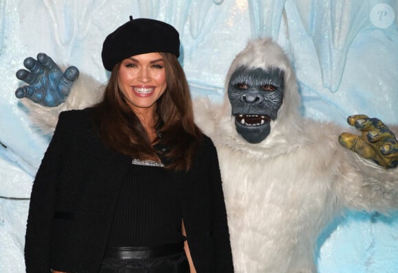
[[[165,62],[167,88],[156,102],[161,141],[169,150],[168,169],[188,170],[201,139],[194,123],[191,95],[183,68],[174,54],[159,53]],[[120,62],[113,67],[102,102],[95,106],[95,123],[104,143],[112,150],[132,158],[153,159],[159,154],[152,147],[139,118],[126,103],[117,84]],[[159,124],[158,124],[159,125]]]

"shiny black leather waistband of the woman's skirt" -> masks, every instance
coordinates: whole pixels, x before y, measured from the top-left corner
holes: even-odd
[[[184,251],[184,243],[164,246],[108,246],[104,258],[115,259],[150,259],[169,256]]]

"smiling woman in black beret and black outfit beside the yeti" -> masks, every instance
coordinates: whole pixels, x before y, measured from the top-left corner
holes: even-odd
[[[36,174],[27,273],[233,272],[218,158],[179,47],[152,19],[108,35],[104,99],[60,114]]]

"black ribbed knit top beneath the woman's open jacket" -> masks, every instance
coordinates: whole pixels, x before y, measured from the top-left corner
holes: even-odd
[[[121,183],[108,246],[159,246],[183,241],[180,187],[164,167],[130,166]]]

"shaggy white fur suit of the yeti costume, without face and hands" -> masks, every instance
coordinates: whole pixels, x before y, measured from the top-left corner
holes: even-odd
[[[296,76],[279,45],[251,41],[233,60],[226,86],[242,65],[285,71],[283,104],[264,141],[250,144],[236,132],[227,95],[221,110],[204,100],[195,104],[198,125],[218,149],[235,271],[316,272],[316,240],[333,217],[344,209],[398,208],[398,169],[382,169],[342,147],[338,134],[347,128],[300,116]],[[96,100],[77,87],[63,109],[83,106],[70,103],[73,94]]]

